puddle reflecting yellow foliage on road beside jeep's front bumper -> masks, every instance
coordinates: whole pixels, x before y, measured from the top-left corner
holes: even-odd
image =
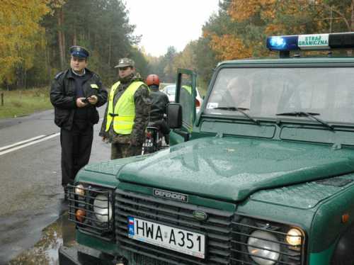
[[[58,249],[62,244],[67,247],[74,245],[75,225],[69,222],[67,213],[61,215],[57,221],[42,230],[42,236],[35,245],[22,252],[15,259],[8,262],[10,265],[55,265],[58,264]]]

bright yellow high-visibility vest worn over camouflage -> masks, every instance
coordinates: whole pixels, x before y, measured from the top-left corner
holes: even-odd
[[[125,89],[122,96],[118,99],[118,102],[114,106],[113,100],[115,90],[118,89],[120,81],[113,84],[110,89],[110,96],[108,99],[108,111],[107,111],[107,123],[105,125],[105,131],[110,129],[110,123],[113,122],[113,130],[119,135],[130,135],[132,133],[132,127],[135,119],[135,101],[134,94],[139,86],[143,85],[142,81],[135,81]]]

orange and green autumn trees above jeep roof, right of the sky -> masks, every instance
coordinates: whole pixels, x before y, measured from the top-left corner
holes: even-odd
[[[218,60],[267,56],[268,35],[354,30],[354,0],[231,0],[203,30]]]

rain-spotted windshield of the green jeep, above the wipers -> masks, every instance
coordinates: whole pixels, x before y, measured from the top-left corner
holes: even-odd
[[[222,107],[245,108],[257,118],[278,113],[319,113],[328,122],[354,123],[354,69],[228,68],[220,70],[205,113],[242,115]],[[290,117],[288,117],[290,118]],[[306,117],[294,117],[307,119]]]

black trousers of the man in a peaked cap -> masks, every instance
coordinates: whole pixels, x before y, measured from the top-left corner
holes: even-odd
[[[89,163],[92,140],[92,125],[74,123],[72,130],[60,130],[62,186],[73,184],[77,172]]]

